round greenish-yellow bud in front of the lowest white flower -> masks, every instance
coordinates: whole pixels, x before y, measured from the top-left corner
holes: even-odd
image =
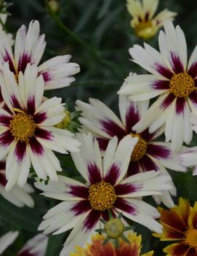
[[[118,218],[105,223],[105,233],[113,239],[120,237],[124,232],[124,224]]]

